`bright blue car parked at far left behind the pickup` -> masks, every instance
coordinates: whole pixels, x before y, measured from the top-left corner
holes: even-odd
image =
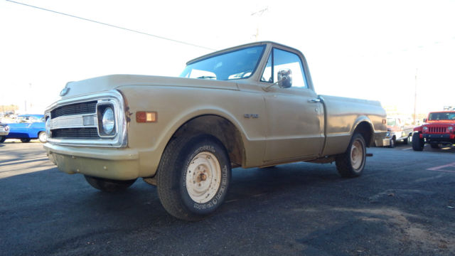
[[[48,141],[43,114],[21,114],[17,120],[16,123],[8,124],[9,134],[1,137],[0,143],[5,139],[21,139],[24,143],[31,139],[39,139],[42,143]]]

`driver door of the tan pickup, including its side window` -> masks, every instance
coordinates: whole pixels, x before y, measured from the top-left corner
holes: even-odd
[[[277,82],[284,69],[291,70],[291,87],[273,85],[264,92],[268,114],[264,161],[313,158],[323,147],[323,106],[309,88],[299,55],[273,48],[261,80]]]

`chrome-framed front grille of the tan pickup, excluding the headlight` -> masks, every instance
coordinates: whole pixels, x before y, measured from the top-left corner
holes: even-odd
[[[102,130],[103,107],[114,110],[112,134]],[[75,146],[127,146],[124,100],[117,90],[55,102],[45,112],[48,142]]]

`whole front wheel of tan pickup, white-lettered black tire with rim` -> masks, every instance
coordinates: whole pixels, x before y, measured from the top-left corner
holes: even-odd
[[[205,166],[211,168],[205,169]],[[215,176],[220,178],[219,181]],[[209,135],[177,137],[169,142],[161,156],[156,174],[158,196],[164,208],[174,217],[200,220],[223,203],[230,177],[230,159],[218,139]],[[203,198],[197,198],[197,189]]]

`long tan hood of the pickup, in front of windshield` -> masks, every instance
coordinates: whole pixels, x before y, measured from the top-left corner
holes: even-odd
[[[239,90],[237,83],[232,81],[173,78],[154,75],[105,75],[77,82],[68,82],[65,89],[60,92],[60,97],[65,99],[94,92],[104,92],[124,85],[207,87],[221,90]]]

